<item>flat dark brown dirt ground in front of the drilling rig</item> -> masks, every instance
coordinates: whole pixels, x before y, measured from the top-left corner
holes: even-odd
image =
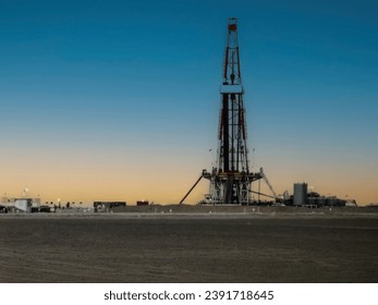
[[[0,282],[378,282],[378,218],[1,216]]]

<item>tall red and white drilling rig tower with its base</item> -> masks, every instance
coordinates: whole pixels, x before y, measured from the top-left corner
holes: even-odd
[[[228,23],[222,78],[217,166],[211,169],[211,172],[203,170],[196,183],[180,204],[185,200],[203,178],[210,182],[209,194],[205,195],[204,203],[206,204],[249,205],[252,203],[252,193],[265,195],[260,192],[252,191],[252,183],[260,179],[265,180],[273,194],[273,196],[266,196],[277,197],[264,174],[263,168],[259,172],[249,171],[243,100],[244,88],[237,42],[237,20],[235,17],[229,19]]]

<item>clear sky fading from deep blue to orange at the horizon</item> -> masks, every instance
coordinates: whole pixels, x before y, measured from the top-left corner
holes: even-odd
[[[378,202],[377,1],[0,4],[1,196],[180,202],[216,162],[237,17],[252,171]]]

